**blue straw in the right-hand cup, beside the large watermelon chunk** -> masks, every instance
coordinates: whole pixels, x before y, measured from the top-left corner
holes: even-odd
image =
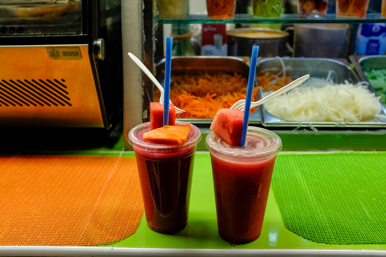
[[[249,67],[247,96],[245,97],[244,118],[242,120],[240,146],[245,146],[245,141],[247,140],[249,111],[251,110],[253,82],[255,81],[257,54],[258,53],[259,53],[259,47],[257,45],[252,46],[251,67]]]

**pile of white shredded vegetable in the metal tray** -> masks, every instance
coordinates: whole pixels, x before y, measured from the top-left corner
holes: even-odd
[[[329,76],[330,77],[330,76]],[[287,121],[359,122],[379,115],[379,98],[365,86],[366,82],[334,85],[325,79],[310,78],[298,86],[264,104],[274,116]],[[267,92],[268,95],[272,92]]]

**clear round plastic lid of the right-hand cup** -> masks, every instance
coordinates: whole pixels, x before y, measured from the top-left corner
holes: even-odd
[[[230,146],[213,131],[207,135],[205,146],[218,155],[237,156],[238,158],[266,158],[276,155],[283,147],[277,134],[252,126],[248,126],[246,145],[243,147]]]

